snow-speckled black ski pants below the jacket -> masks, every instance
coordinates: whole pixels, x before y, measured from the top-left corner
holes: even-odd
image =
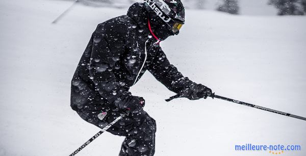
[[[104,128],[120,116],[118,111],[111,110],[107,113],[92,110],[82,110],[77,113],[99,128]],[[143,110],[125,115],[107,132],[125,137],[119,156],[152,156],[155,153],[156,121]]]

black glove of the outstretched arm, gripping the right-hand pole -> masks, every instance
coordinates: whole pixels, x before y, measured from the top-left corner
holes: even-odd
[[[187,97],[190,100],[207,98],[212,95],[212,90],[202,84],[192,84],[189,88],[179,92],[180,97]]]

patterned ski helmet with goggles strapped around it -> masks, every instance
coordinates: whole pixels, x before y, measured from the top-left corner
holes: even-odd
[[[180,0],[144,0],[147,11],[154,11],[177,34],[185,22],[185,9]]]

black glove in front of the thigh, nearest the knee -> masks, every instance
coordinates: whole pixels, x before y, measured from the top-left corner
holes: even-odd
[[[139,96],[127,95],[123,99],[116,101],[115,105],[124,114],[137,113],[143,109],[145,100]]]

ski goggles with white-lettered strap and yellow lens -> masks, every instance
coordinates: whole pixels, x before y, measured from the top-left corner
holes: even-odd
[[[170,17],[170,15],[176,15],[176,13],[169,8],[169,6],[165,3],[162,3],[159,0],[144,0],[144,4],[146,7],[151,8],[157,16],[159,16],[164,22],[167,23],[167,25],[170,27],[170,30],[174,34],[178,34],[180,29],[182,28],[184,22],[181,22],[179,20],[174,20]],[[179,16],[177,16],[179,17]],[[184,19],[181,17],[181,20]]]

